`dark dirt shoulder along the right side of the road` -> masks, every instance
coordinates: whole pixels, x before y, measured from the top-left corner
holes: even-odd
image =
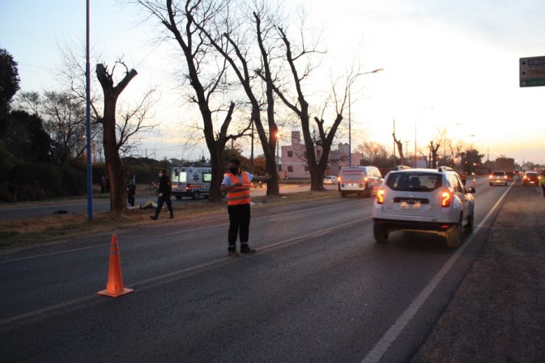
[[[545,362],[545,198],[514,186],[413,362]]]

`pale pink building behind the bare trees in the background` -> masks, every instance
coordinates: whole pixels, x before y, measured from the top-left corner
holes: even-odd
[[[321,158],[322,148],[320,145],[314,146],[316,158]],[[324,175],[339,175],[339,170],[343,166],[348,166],[349,145],[339,144],[336,150],[330,150],[328,158],[328,168]],[[359,165],[361,154],[352,153],[352,165]],[[301,143],[300,132],[291,131],[291,145],[282,146],[282,169],[279,169],[281,179],[310,178],[310,172],[307,165],[307,150],[305,144]]]

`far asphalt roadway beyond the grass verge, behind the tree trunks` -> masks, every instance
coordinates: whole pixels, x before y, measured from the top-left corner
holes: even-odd
[[[337,188],[337,186],[326,186],[326,188]],[[281,193],[296,193],[310,190],[310,184],[280,184]],[[252,189],[252,196],[261,196],[266,194],[266,188]],[[135,200],[136,205],[144,205],[147,201],[157,202],[154,195],[138,196]],[[192,200],[191,198],[182,198],[177,200],[172,198],[173,206],[182,203],[205,202],[205,198]],[[17,205],[3,203],[0,205],[0,220],[22,219],[38,216],[51,216],[56,212],[64,211],[71,214],[87,214],[87,200],[77,200],[73,202],[24,202]],[[94,199],[93,212],[110,211],[110,200]]]

